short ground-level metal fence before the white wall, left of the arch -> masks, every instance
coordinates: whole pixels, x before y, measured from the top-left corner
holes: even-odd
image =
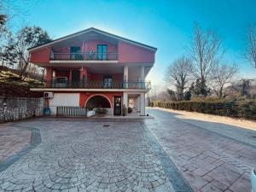
[[[57,117],[86,117],[87,108],[74,106],[58,106],[56,108]]]

